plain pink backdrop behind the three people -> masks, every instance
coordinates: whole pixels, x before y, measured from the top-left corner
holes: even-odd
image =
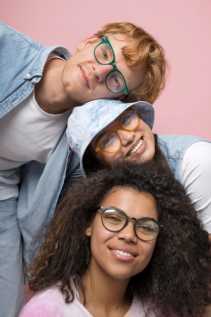
[[[108,22],[134,22],[152,33],[171,63],[154,103],[154,132],[211,139],[210,0],[0,0],[0,20],[44,45],[76,44]]]

